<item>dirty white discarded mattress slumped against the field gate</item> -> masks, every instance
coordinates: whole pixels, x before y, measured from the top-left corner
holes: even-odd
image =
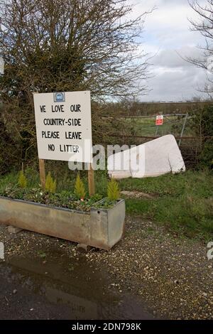
[[[148,143],[109,156],[111,178],[147,178],[185,171],[185,163],[175,137],[162,136]]]

